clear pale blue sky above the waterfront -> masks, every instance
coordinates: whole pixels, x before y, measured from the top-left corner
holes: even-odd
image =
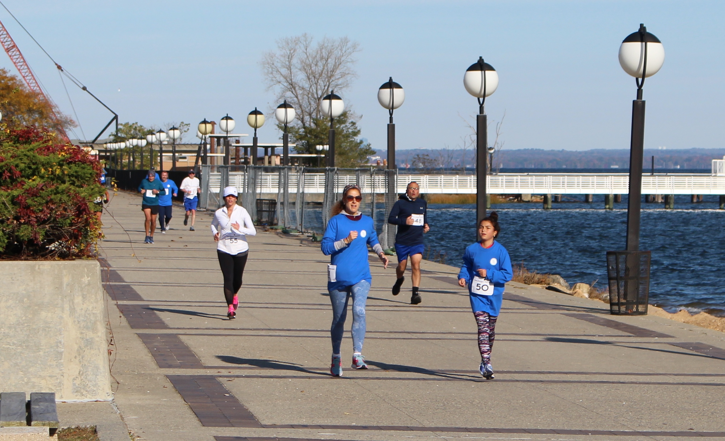
[[[4,0],[51,56],[120,115],[162,125],[276,106],[260,73],[277,38],[347,35],[360,43],[359,77],[342,96],[362,115],[362,136],[385,148],[378,87],[405,88],[395,112],[398,148],[460,145],[476,99],[465,69],[484,56],[500,75],[486,101],[506,114],[505,148],[629,148],[634,78],[617,60],[640,22],[665,46],[645,83],[645,148],[724,144],[723,1],[81,1]],[[0,20],[54,101],[72,114],[59,75],[9,14]],[[14,71],[7,56],[0,67]],[[67,83],[88,138],[110,114]],[[120,91],[119,91],[120,89]],[[80,134],[80,130],[76,129]],[[238,131],[238,130],[235,130]],[[260,142],[278,142],[272,124]],[[191,135],[189,140],[196,140]]]

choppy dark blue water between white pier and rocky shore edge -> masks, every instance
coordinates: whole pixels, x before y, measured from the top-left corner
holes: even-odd
[[[571,196],[576,198],[577,196]],[[650,303],[674,312],[679,308],[725,316],[725,210],[718,196],[691,203],[676,196],[675,209],[642,203],[641,250],[652,251]],[[560,274],[597,287],[607,285],[606,251],[626,243],[626,195],[614,210],[604,209],[604,196],[592,203],[502,203],[499,214],[504,245],[515,264],[529,271]],[[426,235],[427,259],[459,266],[464,248],[475,241],[476,206],[431,204]]]

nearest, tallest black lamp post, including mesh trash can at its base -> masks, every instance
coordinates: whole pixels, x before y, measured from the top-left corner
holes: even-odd
[[[619,46],[619,64],[635,78],[637,99],[632,101],[629,141],[629,201],[627,201],[626,251],[607,251],[611,314],[647,314],[650,293],[650,251],[639,251],[639,216],[642,209],[642,161],[645,148],[645,78],[655,75],[665,62],[665,49],[655,35],[640,24]]]

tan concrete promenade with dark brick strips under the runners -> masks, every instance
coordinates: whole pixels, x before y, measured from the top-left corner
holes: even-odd
[[[510,283],[487,382],[457,269],[424,261],[423,303],[410,306],[410,291],[390,293],[394,269],[373,262],[370,369],[335,379],[328,259],[317,246],[273,232],[250,238],[230,321],[210,215],[189,232],[175,207],[173,229],[146,245],[140,204],[113,198],[99,251],[115,404],[143,440],[725,437],[721,332],[610,316],[598,301]],[[344,367],[351,356],[347,332]]]

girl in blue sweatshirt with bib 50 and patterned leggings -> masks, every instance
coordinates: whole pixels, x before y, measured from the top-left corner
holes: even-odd
[[[458,285],[468,284],[473,316],[479,327],[479,372],[486,379],[494,378],[491,348],[496,337],[496,319],[501,311],[503,290],[513,277],[508,251],[494,238],[501,231],[498,214],[492,211],[479,222],[479,242],[468,245],[463,253],[463,266],[458,273]]]

